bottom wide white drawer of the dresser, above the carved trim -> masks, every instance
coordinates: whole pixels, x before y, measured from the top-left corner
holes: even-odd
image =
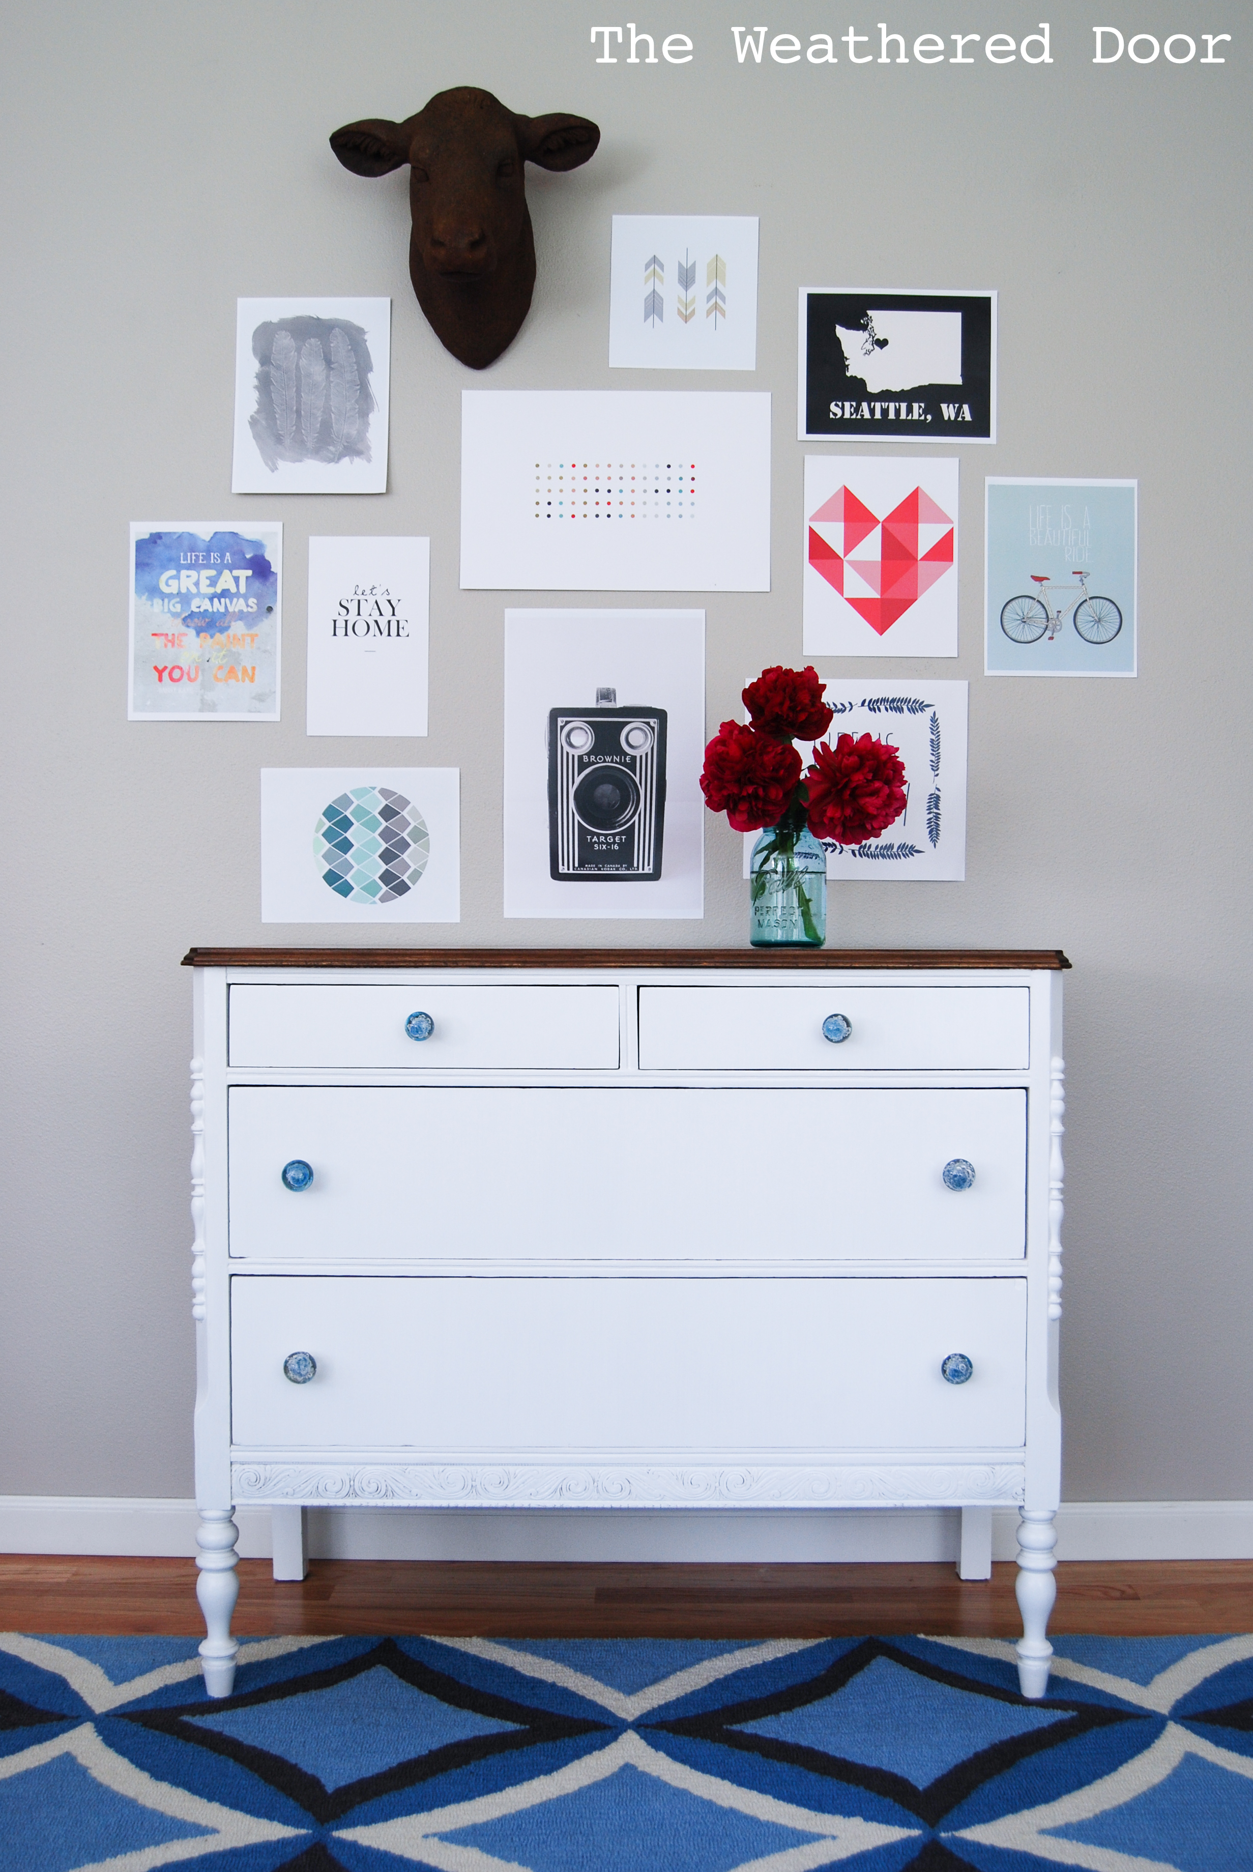
[[[230,1282],[236,1447],[1021,1447],[1026,1282],[317,1279]],[[307,1352],[309,1383],[283,1361]],[[948,1383],[950,1353],[974,1372]]]

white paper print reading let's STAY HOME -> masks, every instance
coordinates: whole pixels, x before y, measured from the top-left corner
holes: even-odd
[[[427,732],[431,541],[309,541],[309,734]]]

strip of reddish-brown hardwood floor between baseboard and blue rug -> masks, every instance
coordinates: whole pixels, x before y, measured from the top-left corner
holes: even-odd
[[[238,1636],[817,1638],[936,1632],[1015,1638],[1013,1565],[528,1565],[313,1561],[275,1584],[240,1561]],[[1053,1632],[1165,1636],[1253,1631],[1253,1561],[1064,1561]],[[195,1634],[189,1559],[0,1556],[0,1627]]]

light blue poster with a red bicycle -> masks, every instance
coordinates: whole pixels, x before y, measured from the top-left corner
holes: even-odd
[[[1135,481],[989,475],[989,676],[1135,676]]]

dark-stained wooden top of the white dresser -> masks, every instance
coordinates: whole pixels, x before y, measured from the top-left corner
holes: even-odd
[[[1069,968],[1060,949],[187,949],[184,968]]]

